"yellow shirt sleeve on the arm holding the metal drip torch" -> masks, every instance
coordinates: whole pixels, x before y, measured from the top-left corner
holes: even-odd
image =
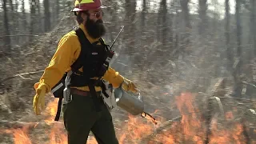
[[[102,77],[106,81],[110,82],[114,88],[117,88],[123,82],[123,77],[117,71],[109,67],[104,76]]]

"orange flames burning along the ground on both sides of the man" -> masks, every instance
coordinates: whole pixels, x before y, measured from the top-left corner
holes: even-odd
[[[150,118],[146,119],[128,114],[126,121],[115,126],[119,143],[202,144],[205,143],[206,137],[208,137],[210,144],[246,143],[242,124],[235,121],[234,113],[238,111],[236,108],[226,112],[225,119],[222,120],[224,122],[219,122],[218,118],[215,117],[211,119],[210,134],[206,135],[208,129],[205,122],[206,120],[202,118],[201,110],[195,105],[194,94],[182,93],[175,97],[175,103],[182,118],[180,121],[172,122],[170,126],[162,130],[158,129],[161,127],[162,123],[167,121],[166,118],[159,117],[158,120],[156,120],[158,125],[155,126],[150,121]],[[49,138],[49,142],[46,143],[67,144],[67,134],[63,123],[54,122],[57,106],[58,99],[55,98],[53,102],[50,102],[46,106],[46,110],[43,113],[45,118],[44,122],[46,126],[50,127],[49,130],[45,130],[45,135]],[[159,113],[159,110],[155,111],[154,114],[157,112]],[[38,123],[34,123],[33,125],[25,125],[22,129],[0,130],[0,134],[13,134],[14,144],[31,144],[34,143],[34,141],[38,141],[37,139],[30,138],[30,131],[40,128],[37,125]],[[256,131],[254,132],[256,133]],[[87,143],[97,144],[98,142],[90,135]],[[256,144],[255,141],[251,143]]]

